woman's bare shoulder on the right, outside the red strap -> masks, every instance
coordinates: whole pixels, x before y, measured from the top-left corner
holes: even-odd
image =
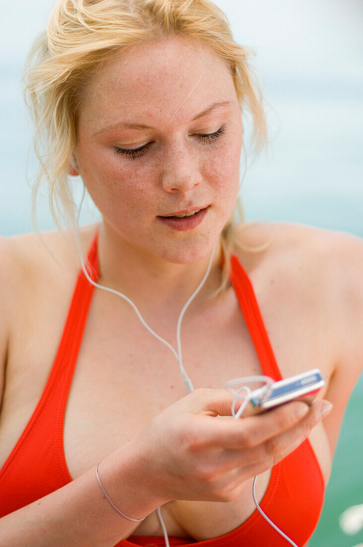
[[[293,223],[246,223],[237,227],[236,252],[248,269],[266,265],[283,281],[297,279],[322,296],[349,301],[362,290],[363,240],[358,236]],[[299,275],[300,274],[300,275]],[[297,276],[293,278],[292,276]],[[304,277],[304,278],[303,278]],[[356,300],[358,305],[358,301]]]

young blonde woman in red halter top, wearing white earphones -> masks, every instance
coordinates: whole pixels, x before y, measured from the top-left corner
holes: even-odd
[[[246,49],[206,0],[61,0],[27,92],[73,229],[1,241],[0,544],[286,545],[258,476],[307,545],[361,370],[363,252],[231,220],[246,112],[266,139]],[[102,214],[79,246],[67,173]],[[310,406],[233,417],[228,380],[312,368]]]

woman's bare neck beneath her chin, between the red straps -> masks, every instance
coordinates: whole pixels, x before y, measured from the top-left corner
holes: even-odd
[[[169,308],[179,313],[203,279],[211,252],[212,249],[192,264],[170,263],[130,246],[102,223],[98,237],[98,283],[128,296],[141,309]],[[210,274],[195,297],[194,305],[204,302],[218,288],[222,275],[220,263],[221,245],[218,243]]]

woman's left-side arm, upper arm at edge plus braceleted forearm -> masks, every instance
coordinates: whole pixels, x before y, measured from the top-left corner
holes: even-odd
[[[21,294],[29,283],[26,261],[12,238],[0,237],[0,395],[5,391],[8,348]],[[1,407],[0,407],[1,411]],[[1,426],[1,416],[0,416]],[[140,519],[160,504],[157,488],[147,490],[145,464],[129,444],[112,453],[99,466],[99,476],[114,503]],[[112,477],[112,478],[111,478]],[[111,480],[110,480],[111,478]],[[14,476],[16,481],[16,476]],[[111,484],[109,484],[111,483]],[[0,493],[6,495],[6,493]],[[105,500],[92,468],[76,480],[0,520],[0,545],[112,546],[133,532],[137,522],[118,515]]]

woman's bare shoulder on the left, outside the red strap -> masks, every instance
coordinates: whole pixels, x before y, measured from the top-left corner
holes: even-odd
[[[87,252],[97,225],[80,229]],[[72,230],[0,237],[0,410],[5,377],[14,352],[40,324],[44,314],[63,310],[72,295],[80,267]],[[63,307],[62,307],[63,306]],[[53,314],[55,315],[55,314]],[[51,317],[55,321],[55,317]]]

